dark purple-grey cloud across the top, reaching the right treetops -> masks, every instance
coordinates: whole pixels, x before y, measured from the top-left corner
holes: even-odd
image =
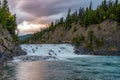
[[[88,6],[91,0],[30,0],[21,5],[21,10],[36,17],[51,16],[66,12],[69,8]],[[100,0],[92,0],[93,3]]]

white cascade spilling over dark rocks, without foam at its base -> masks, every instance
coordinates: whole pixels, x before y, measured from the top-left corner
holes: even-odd
[[[30,56],[75,56],[74,46],[71,44],[32,44],[21,45],[21,48]]]

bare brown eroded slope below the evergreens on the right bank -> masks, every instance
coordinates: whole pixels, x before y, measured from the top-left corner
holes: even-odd
[[[76,28],[76,30],[74,30]],[[90,32],[93,31],[94,40],[89,46]],[[116,21],[105,20],[101,24],[93,24],[87,28],[73,24],[70,30],[57,27],[54,31],[45,32],[41,38],[29,43],[73,43],[80,47],[116,51],[120,49],[120,26]],[[95,39],[96,38],[96,39]],[[103,42],[102,42],[103,40]]]

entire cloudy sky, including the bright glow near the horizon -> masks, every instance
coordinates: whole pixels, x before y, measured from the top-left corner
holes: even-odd
[[[19,35],[32,34],[45,28],[52,21],[65,17],[69,9],[93,8],[102,0],[8,0],[10,11],[16,14]]]

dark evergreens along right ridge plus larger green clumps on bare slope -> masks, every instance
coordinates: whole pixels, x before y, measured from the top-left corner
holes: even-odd
[[[100,24],[102,21],[107,19],[117,20],[118,23],[120,23],[120,3],[118,0],[104,0],[100,6],[97,6],[96,10],[92,9],[92,2],[90,2],[90,6],[86,9],[80,8],[79,11],[76,10],[72,14],[71,9],[69,9],[65,20],[60,18],[59,20],[56,20],[55,23],[51,23],[49,28],[46,28],[37,34],[41,39],[43,39],[41,36],[45,32],[48,32],[49,30],[52,31],[58,26],[65,27],[66,30],[70,30],[71,27],[74,27],[74,25],[89,27],[91,24]],[[74,27],[73,32],[75,31],[76,28]],[[80,43],[80,38],[78,37],[80,36],[73,38],[73,41],[77,44]],[[96,45],[101,46],[102,44],[103,40],[97,38],[94,35],[94,32],[90,30],[88,33],[88,46],[95,47]]]

